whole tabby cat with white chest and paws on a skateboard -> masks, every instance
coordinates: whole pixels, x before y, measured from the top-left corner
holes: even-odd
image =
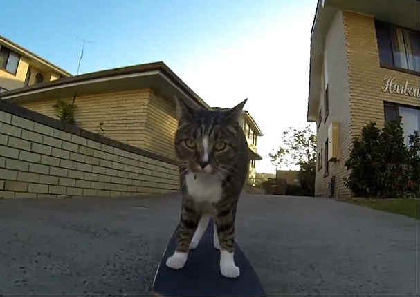
[[[182,99],[175,100],[175,151],[181,160],[182,208],[178,246],[166,265],[172,269],[184,267],[189,249],[197,247],[212,217],[221,274],[237,278],[235,216],[249,166],[239,115],[247,99],[227,111],[192,108]]]

